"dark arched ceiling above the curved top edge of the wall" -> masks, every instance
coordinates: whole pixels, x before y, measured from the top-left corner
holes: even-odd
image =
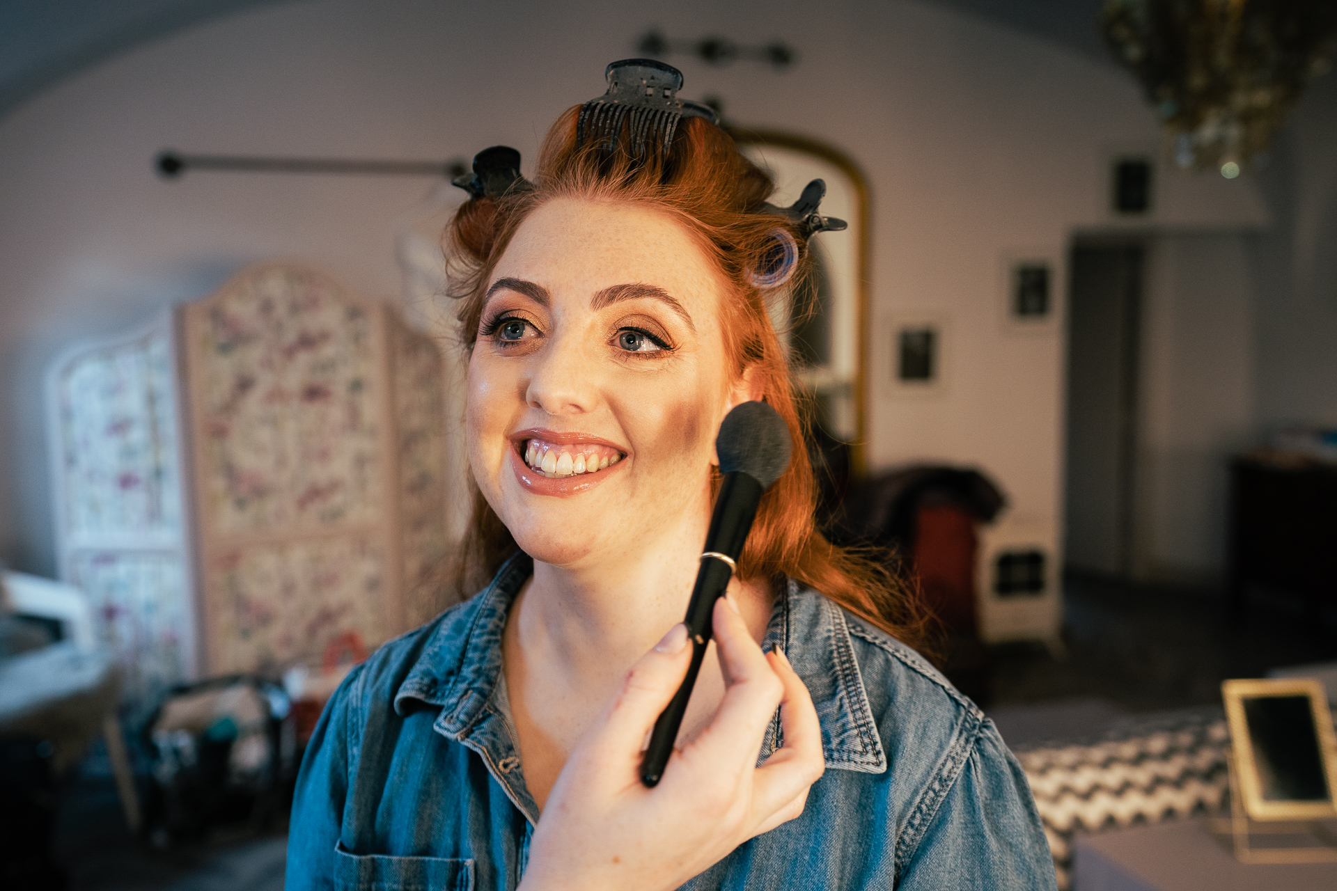
[[[62,77],[136,44],[250,7],[289,1],[5,0],[0,3],[0,116]],[[924,1],[1110,60],[1095,25],[1102,0]]]

